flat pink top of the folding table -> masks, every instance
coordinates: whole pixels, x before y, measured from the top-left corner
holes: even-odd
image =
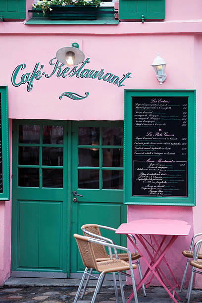
[[[172,219],[143,219],[121,224],[117,234],[142,235],[189,235],[191,225],[185,221]]]

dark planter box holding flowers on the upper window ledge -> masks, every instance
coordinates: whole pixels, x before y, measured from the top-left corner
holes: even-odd
[[[97,5],[51,5],[50,20],[96,20]]]

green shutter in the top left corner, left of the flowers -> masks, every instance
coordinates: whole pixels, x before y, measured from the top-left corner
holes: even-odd
[[[26,0],[1,0],[0,15],[4,19],[25,19]]]

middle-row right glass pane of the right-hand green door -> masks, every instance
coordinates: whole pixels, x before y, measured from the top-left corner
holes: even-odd
[[[102,149],[102,166],[123,167],[123,149]]]

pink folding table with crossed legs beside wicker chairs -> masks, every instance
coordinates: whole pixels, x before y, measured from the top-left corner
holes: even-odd
[[[140,289],[142,284],[144,283],[146,288],[150,285],[152,278],[155,276],[160,284],[167,291],[170,298],[177,303],[175,296],[178,300],[182,301],[178,294],[175,291],[175,288],[180,286],[175,278],[174,273],[172,272],[168,261],[165,258],[165,253],[170,249],[172,244],[175,242],[178,236],[187,236],[189,235],[191,225],[188,225],[185,221],[180,220],[163,220],[163,219],[144,219],[144,220],[135,220],[130,223],[121,224],[116,233],[117,234],[125,234],[131,244],[135,247],[135,249],[140,253],[142,259],[148,265],[148,269],[146,270],[143,279],[137,285],[137,291]],[[128,234],[132,234],[140,241],[145,250],[147,251],[150,261],[148,261],[147,257],[140,251],[140,248],[135,245],[132,241],[131,237]],[[145,237],[145,235],[150,235],[151,241]],[[161,235],[162,237],[158,237]],[[160,238],[160,240],[159,240]],[[152,253],[151,253],[152,249]],[[165,262],[170,274],[173,277],[176,285],[172,286],[169,282],[168,278],[164,274],[164,272],[160,268],[160,263]],[[149,279],[148,281],[146,281]],[[170,287],[167,288],[166,284]],[[172,293],[171,293],[172,291]],[[128,302],[131,301],[134,294],[128,298]]]

